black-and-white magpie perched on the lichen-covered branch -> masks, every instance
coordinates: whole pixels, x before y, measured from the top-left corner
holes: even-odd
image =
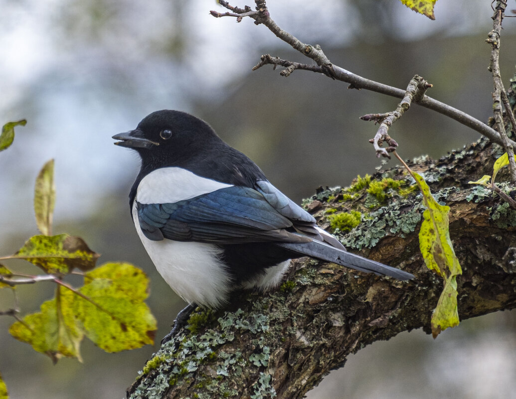
[[[276,288],[291,259],[310,256],[360,272],[414,277],[347,252],[252,160],[189,113],[155,111],[112,138],[141,158],[129,194],[133,222],[157,271],[188,303],[162,343],[197,306],[218,309],[234,291]]]

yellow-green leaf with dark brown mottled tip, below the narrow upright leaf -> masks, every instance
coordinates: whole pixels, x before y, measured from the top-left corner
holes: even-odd
[[[73,268],[82,271],[93,269],[99,256],[82,238],[60,234],[31,237],[12,258],[28,260],[46,273],[67,274]]]

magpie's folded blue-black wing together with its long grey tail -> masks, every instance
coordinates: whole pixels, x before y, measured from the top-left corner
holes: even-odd
[[[215,244],[273,242],[301,256],[308,255],[366,273],[410,279],[410,273],[347,252],[315,224],[315,219],[268,181],[257,190],[230,186],[167,204],[136,202],[143,234]]]

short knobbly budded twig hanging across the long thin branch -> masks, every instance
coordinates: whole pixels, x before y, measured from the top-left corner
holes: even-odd
[[[380,123],[380,127],[376,132],[375,138],[369,140],[370,143],[373,143],[376,156],[378,158],[382,156],[391,159],[389,153],[395,151],[398,143],[389,137],[389,128],[394,122],[403,116],[405,111],[410,108],[412,101],[415,101],[417,98],[422,98],[425,95],[426,89],[430,87],[432,87],[432,85],[430,85],[425,79],[423,79],[421,76],[415,75],[412,79],[410,79],[405,96],[394,111],[388,113],[367,114],[363,117],[360,117],[360,119],[364,121],[375,121]],[[382,147],[384,141],[386,141],[389,145],[387,148]]]

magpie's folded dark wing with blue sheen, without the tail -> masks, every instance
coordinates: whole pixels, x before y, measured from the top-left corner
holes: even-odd
[[[295,220],[281,214],[262,193],[247,187],[231,186],[171,204],[136,206],[142,232],[150,240],[217,244],[310,241],[294,233]]]

